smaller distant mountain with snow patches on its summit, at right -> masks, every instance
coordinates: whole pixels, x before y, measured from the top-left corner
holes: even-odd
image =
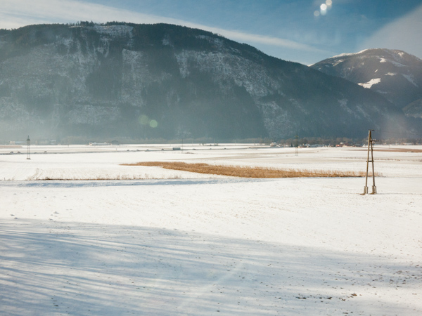
[[[366,49],[334,56],[311,67],[376,91],[400,109],[417,100],[422,102],[422,60],[404,51]],[[422,117],[422,112],[405,113]]]

